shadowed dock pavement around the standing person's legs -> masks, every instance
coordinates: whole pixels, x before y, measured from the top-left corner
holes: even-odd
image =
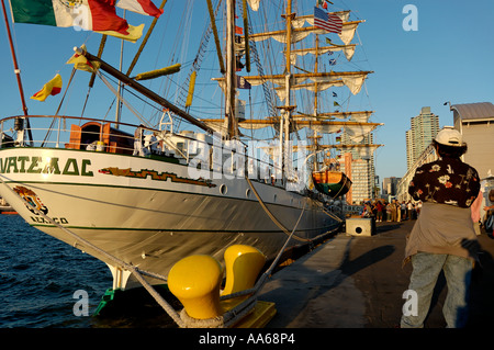
[[[378,223],[372,236],[345,232],[277,272],[259,294],[276,303],[267,328],[396,328],[411,264],[403,267],[405,238],[415,221]],[[494,326],[494,239],[479,237],[482,253],[471,285],[468,327]],[[441,274],[425,328],[446,327]]]

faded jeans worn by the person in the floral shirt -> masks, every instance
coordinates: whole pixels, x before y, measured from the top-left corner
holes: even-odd
[[[448,285],[442,315],[448,328],[464,327],[468,317],[468,290],[470,286],[472,261],[451,255],[418,252],[412,257],[413,272],[408,290],[417,293],[417,313],[403,315],[402,328],[422,328],[427,317],[434,287],[441,270]],[[407,313],[409,314],[409,313]]]

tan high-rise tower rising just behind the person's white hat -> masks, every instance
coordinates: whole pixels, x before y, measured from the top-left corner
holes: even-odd
[[[439,116],[424,106],[420,114],[411,117],[411,128],[406,132],[406,168],[409,169],[422,153],[439,133]]]

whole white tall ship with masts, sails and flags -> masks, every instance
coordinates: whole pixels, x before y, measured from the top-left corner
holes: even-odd
[[[228,246],[246,244],[272,259],[291,233],[288,247],[337,230],[345,213],[332,211],[332,204],[344,199],[351,179],[338,171],[336,159],[350,149],[371,154],[379,146],[361,140],[380,124],[369,122],[370,111],[335,109],[341,89],[358,94],[370,71],[337,72],[333,61],[327,64],[328,53],[352,58],[357,45],[351,41],[362,21],[349,21],[349,11],[327,12],[326,2],[300,2],[299,11],[288,1],[283,13],[274,13],[268,2],[207,0],[209,14],[202,4],[197,7],[210,19],[198,36],[199,48],[180,48],[187,52],[183,63],[189,64],[182,66],[189,71],[170,58],[166,68],[134,76],[139,55],[151,55],[156,48],[146,43],[159,39],[150,30],[160,29],[162,18],[184,13],[182,23],[192,25],[187,20],[194,8],[190,2],[162,1],[159,8],[150,1],[117,2],[126,11],[155,16],[139,38],[143,29],[128,26],[103,1],[11,0],[18,23],[70,26],[83,9],[89,15],[104,10],[115,16],[109,26],[93,18],[89,30],[103,34],[98,55],[85,46],[76,49],[68,61],[74,64],[68,87],[61,89],[56,77],[35,98],[57,92],[65,97],[77,86],[77,74],[81,80],[90,77],[90,87],[94,77],[100,78],[115,94],[110,105],[116,101],[117,109],[114,121],[106,110],[83,116],[91,98],[80,115],[59,114],[61,102],[54,115],[27,114],[12,46],[24,114],[0,121],[0,195],[30,225],[104,261],[114,290],[138,285],[125,266],[149,272],[146,280],[160,284],[169,269],[190,255],[222,260]],[[56,21],[41,22],[41,4]],[[114,22],[123,26],[114,27]],[[273,29],[254,31],[265,24]],[[183,43],[184,29],[177,30]],[[114,36],[141,41],[126,70],[100,58],[105,41],[116,41]],[[172,48],[167,53],[175,57]],[[112,60],[117,65],[119,57]],[[204,69],[213,63],[214,70]],[[211,87],[207,75],[201,78],[201,68],[214,72],[224,98],[215,88],[198,93],[201,83]],[[143,82],[146,79],[154,80]],[[178,88],[155,92],[154,81]],[[198,100],[210,91],[217,111]],[[153,109],[148,117],[131,105],[132,99]],[[124,111],[135,116],[134,124],[122,121]],[[341,135],[356,143],[335,143]]]

